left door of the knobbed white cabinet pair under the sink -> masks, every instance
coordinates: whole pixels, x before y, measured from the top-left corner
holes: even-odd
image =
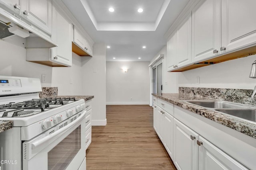
[[[198,169],[199,135],[174,118],[174,159],[178,170]]]

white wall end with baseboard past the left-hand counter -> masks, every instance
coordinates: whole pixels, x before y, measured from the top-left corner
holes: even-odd
[[[94,96],[92,125],[106,125],[105,44],[94,44],[93,57],[82,57],[82,94]]]

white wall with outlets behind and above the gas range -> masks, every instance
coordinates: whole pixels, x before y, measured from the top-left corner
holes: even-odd
[[[18,36],[8,37],[0,41],[0,75],[39,78],[46,75],[46,83],[42,87],[58,87],[58,95],[82,94],[81,57],[72,56],[72,67],[50,67],[26,61],[25,41]],[[16,44],[16,45],[14,45]],[[73,84],[70,84],[70,78]]]

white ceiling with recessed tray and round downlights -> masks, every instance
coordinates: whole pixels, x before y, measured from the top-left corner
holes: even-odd
[[[111,47],[107,61],[150,61],[166,45],[164,34],[188,1],[62,0],[95,43]]]

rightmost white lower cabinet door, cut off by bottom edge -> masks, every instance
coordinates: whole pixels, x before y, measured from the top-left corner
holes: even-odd
[[[247,170],[228,154],[199,137],[199,170]]]

